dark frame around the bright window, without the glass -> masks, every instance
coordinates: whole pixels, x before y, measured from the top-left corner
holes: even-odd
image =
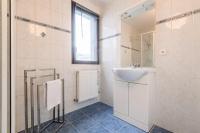
[[[75,9],[78,8],[83,12],[90,14],[92,16],[97,17],[97,61],[80,61],[76,60],[76,52],[75,52]],[[72,1],[72,64],[99,64],[99,15],[90,9]]]

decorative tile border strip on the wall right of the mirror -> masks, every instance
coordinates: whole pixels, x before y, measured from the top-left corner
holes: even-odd
[[[198,14],[198,13],[200,13],[200,9],[196,9],[194,11],[189,11],[189,12],[186,12],[186,13],[183,13],[183,14],[179,14],[179,15],[176,15],[176,16],[173,16],[173,17],[170,17],[170,18],[160,20],[160,21],[156,22],[156,25],[162,24],[162,23],[167,23],[167,22],[172,21],[172,20],[177,20],[177,19],[181,19],[181,18],[184,18],[184,17],[188,17],[188,16]]]

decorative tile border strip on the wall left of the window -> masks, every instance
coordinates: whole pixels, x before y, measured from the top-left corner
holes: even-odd
[[[24,21],[24,22],[28,22],[28,23],[32,23],[32,24],[36,24],[36,25],[40,25],[40,26],[43,26],[43,27],[51,28],[51,29],[54,29],[54,30],[59,30],[59,31],[71,33],[71,31],[69,31],[67,29],[63,29],[63,28],[60,28],[60,27],[57,27],[57,26],[41,23],[41,22],[38,22],[38,21],[35,21],[35,20],[30,20],[30,19],[27,19],[27,18],[24,18],[24,17],[15,16],[15,19],[21,20],[21,21]]]

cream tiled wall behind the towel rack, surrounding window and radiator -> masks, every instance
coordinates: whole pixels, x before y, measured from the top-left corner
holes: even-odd
[[[100,8],[88,1],[77,2],[100,14]],[[99,66],[71,64],[71,0],[17,0],[16,16],[16,130],[24,129],[25,69],[56,68],[65,78],[66,113],[98,101],[73,102],[75,71]],[[42,121],[50,118],[42,108]]]

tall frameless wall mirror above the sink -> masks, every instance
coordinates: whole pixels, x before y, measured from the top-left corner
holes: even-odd
[[[154,66],[155,2],[146,0],[121,14],[121,66]]]

